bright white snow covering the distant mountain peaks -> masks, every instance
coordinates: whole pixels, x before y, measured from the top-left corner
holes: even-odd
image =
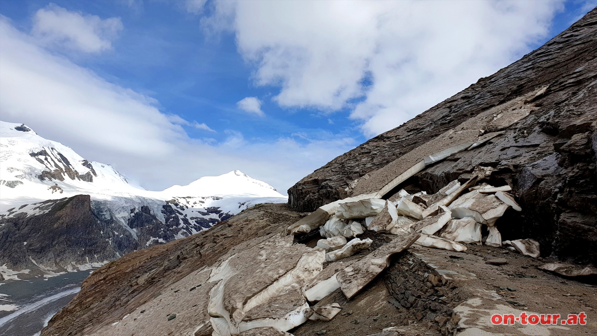
[[[183,218],[204,218],[210,222],[203,225],[207,228],[223,215],[234,215],[255,204],[288,201],[271,185],[239,170],[205,176],[189,185],[174,185],[163,191],[144,190],[129,183],[109,164],[89,162],[24,124],[4,121],[0,121],[0,194],[0,219],[21,212],[28,216],[44,213],[48,209],[34,204],[41,201],[90,195],[91,206],[100,215],[116,219],[133,235],[127,220],[141,206],[149,207],[153,215],[164,221],[162,206],[169,202],[176,207],[180,225],[186,225]],[[28,205],[19,209],[24,204]],[[196,227],[189,231],[198,232]],[[177,236],[181,237],[184,236]]]

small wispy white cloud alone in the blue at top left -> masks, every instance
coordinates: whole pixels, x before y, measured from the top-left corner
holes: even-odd
[[[44,45],[63,45],[85,53],[112,48],[112,40],[122,30],[118,17],[102,20],[99,16],[68,11],[49,4],[33,16],[31,33]]]

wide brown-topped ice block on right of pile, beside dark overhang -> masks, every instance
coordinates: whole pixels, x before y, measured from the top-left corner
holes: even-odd
[[[509,205],[500,201],[495,195],[481,194],[478,190],[466,193],[450,204],[454,218],[472,217],[475,221],[490,227],[504,215],[508,207]]]

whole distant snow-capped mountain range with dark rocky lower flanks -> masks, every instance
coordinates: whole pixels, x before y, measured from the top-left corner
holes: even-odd
[[[239,170],[147,191],[24,124],[0,122],[0,135],[4,279],[104,264],[207,230],[255,204],[287,201]]]

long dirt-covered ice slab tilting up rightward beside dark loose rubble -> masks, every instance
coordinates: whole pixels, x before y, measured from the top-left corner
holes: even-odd
[[[336,279],[340,283],[340,289],[348,299],[355,296],[371,280],[385,270],[391,255],[399,253],[411,246],[420,236],[420,233],[398,233],[397,237],[386,245],[380,246],[364,256],[352,265],[346,266],[338,271]]]

